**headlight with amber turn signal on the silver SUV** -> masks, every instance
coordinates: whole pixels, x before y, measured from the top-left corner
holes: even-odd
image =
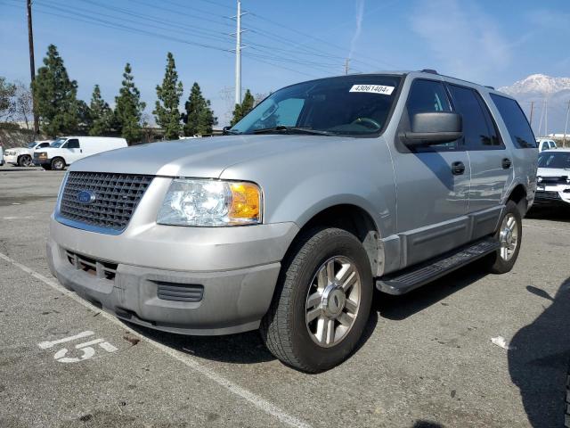
[[[261,191],[246,182],[176,178],[157,223],[174,226],[240,226],[261,223]]]

